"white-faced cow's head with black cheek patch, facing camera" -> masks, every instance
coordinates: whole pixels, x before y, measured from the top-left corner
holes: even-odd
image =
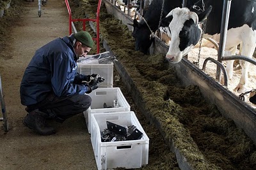
[[[209,15],[209,10],[202,15]],[[200,18],[206,18],[200,16]],[[198,25],[198,15],[189,11],[188,8],[175,8],[165,18],[161,24],[164,27],[169,27],[171,34],[169,50],[166,54],[166,59],[171,62],[180,62],[182,57],[186,55],[198,43],[202,29]]]

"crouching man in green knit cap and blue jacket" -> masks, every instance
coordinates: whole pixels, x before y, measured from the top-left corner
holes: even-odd
[[[41,135],[55,134],[46,119],[63,122],[87,110],[92,99],[88,94],[97,89],[93,75],[77,73],[77,60],[86,57],[93,47],[86,31],[57,38],[36,50],[20,84],[21,104],[28,114],[23,123]],[[82,81],[90,83],[82,83]]]

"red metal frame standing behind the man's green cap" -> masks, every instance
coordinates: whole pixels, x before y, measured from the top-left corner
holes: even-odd
[[[100,5],[101,5],[101,1],[99,0],[98,3],[98,7],[97,7],[97,13],[96,13],[96,19],[92,19],[92,18],[79,18],[79,19],[72,19],[72,13],[71,13],[71,9],[68,3],[68,0],[65,0],[66,6],[67,6],[67,10],[68,10],[68,26],[69,26],[69,34],[72,34],[72,22],[83,22],[83,30],[86,30],[86,22],[92,21],[92,22],[96,22],[97,23],[97,28],[96,28],[96,38],[93,38],[94,41],[97,42],[97,53],[100,53]]]

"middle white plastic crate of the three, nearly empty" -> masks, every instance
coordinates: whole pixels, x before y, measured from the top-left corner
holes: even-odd
[[[88,132],[91,133],[91,117],[93,113],[109,113],[116,111],[130,111],[131,107],[126,101],[124,94],[119,87],[112,88],[99,88],[93,90],[88,94],[92,98],[92,104],[88,110],[84,111],[84,118]],[[103,104],[106,103],[107,106],[113,106],[113,101],[118,101],[118,108],[104,108]]]

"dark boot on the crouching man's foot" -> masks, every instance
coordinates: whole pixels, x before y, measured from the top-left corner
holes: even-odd
[[[36,111],[29,112],[23,120],[24,125],[41,135],[55,134],[56,130],[52,127],[47,127],[45,117]]]

